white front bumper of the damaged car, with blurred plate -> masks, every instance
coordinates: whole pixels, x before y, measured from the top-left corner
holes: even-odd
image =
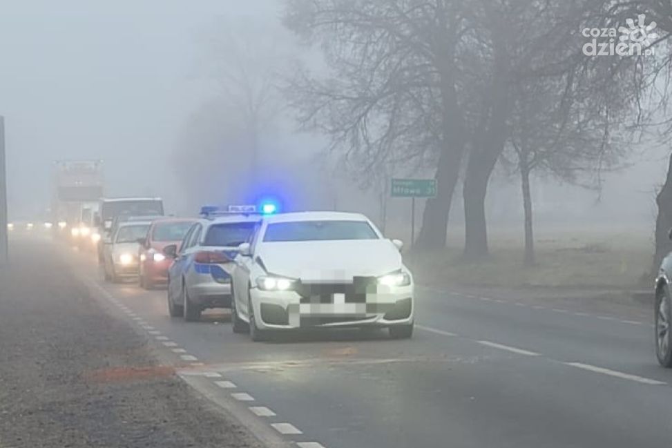
[[[250,290],[259,329],[291,330],[316,327],[394,327],[412,324],[413,285],[378,286],[365,300],[352,302],[343,294],[307,298],[296,291]]]

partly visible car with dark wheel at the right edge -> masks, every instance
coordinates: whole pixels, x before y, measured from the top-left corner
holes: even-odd
[[[672,230],[669,233],[672,240]],[[667,254],[660,263],[655,279],[655,310],[653,326],[655,328],[655,354],[662,367],[672,367],[672,253]]]

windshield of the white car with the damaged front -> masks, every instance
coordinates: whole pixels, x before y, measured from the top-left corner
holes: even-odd
[[[295,221],[269,224],[265,242],[377,240],[378,235],[365,221]]]

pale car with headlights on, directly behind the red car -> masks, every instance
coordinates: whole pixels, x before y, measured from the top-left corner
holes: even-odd
[[[123,222],[110,237],[106,237],[103,249],[105,280],[117,283],[124,278],[137,277],[140,241],[146,240],[151,224],[151,221]]]

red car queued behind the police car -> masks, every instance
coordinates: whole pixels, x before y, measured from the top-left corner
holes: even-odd
[[[144,244],[140,246],[140,286],[153,289],[156,284],[168,282],[168,268],[173,260],[163,254],[169,244],[180,244],[186,232],[195,220],[184,218],[166,218],[152,223]]]

